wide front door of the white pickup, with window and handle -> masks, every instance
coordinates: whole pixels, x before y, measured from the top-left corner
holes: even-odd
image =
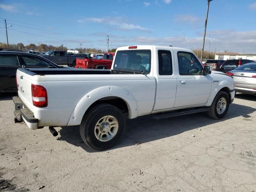
[[[177,93],[174,107],[203,106],[210,96],[212,78],[202,75],[202,64],[191,52],[176,52]]]

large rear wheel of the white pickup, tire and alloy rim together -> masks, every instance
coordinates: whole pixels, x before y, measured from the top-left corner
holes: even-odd
[[[121,110],[110,104],[99,104],[84,114],[80,135],[91,148],[105,150],[118,142],[124,129],[125,120]]]

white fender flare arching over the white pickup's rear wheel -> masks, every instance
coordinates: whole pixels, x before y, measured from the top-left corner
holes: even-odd
[[[104,86],[96,88],[88,92],[76,105],[70,119],[68,121],[68,126],[71,125],[80,125],[82,118],[88,110],[88,108],[97,100],[100,100],[105,97],[118,97],[124,100],[128,106],[129,118],[137,117],[137,103],[132,94],[130,94],[124,88],[116,86]]]

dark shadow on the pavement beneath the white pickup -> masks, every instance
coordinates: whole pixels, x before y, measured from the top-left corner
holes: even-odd
[[[128,119],[126,121],[126,130],[122,138],[116,146],[108,150],[171,137],[188,130],[215,124],[239,116],[242,117],[241,120],[248,120],[247,118],[250,118],[250,114],[254,111],[256,111],[255,108],[239,104],[231,104],[228,113],[221,120],[208,118],[205,113],[191,114],[163,120],[153,119],[152,116],[154,115],[142,116],[131,120]],[[218,124],[216,124],[216,128],[217,126]],[[99,152],[89,148],[82,141],[79,133],[79,126],[62,127],[58,140],[64,140],[74,146],[80,146],[87,152]]]

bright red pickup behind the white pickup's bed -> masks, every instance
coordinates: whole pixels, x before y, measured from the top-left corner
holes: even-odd
[[[106,52],[102,59],[77,58],[75,68],[79,69],[110,69],[115,53]]]

